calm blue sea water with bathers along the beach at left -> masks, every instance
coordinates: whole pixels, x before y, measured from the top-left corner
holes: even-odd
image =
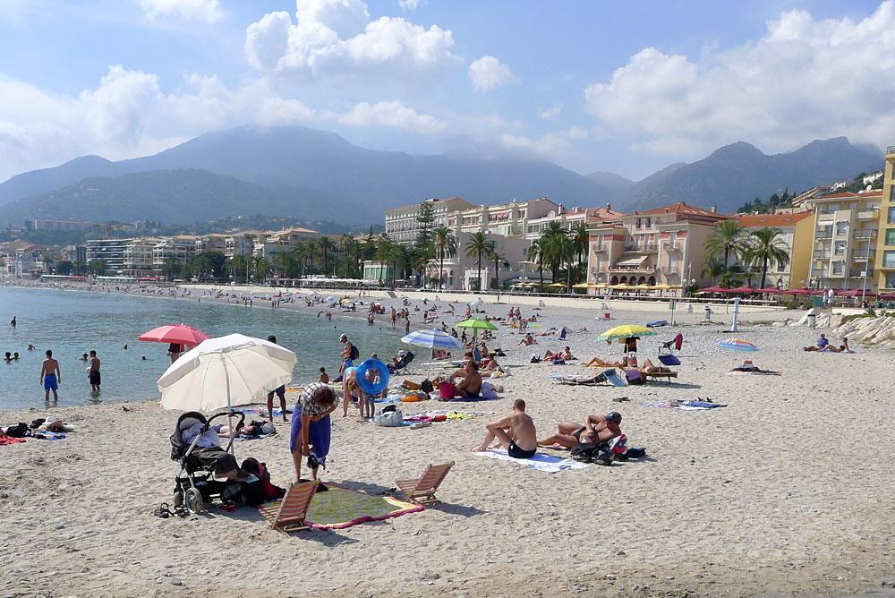
[[[18,326],[13,329],[13,315]],[[384,320],[382,320],[384,323]],[[132,297],[81,291],[0,287],[0,356],[18,351],[14,363],[0,363],[0,411],[44,405],[39,384],[40,364],[47,349],[59,360],[63,383],[59,405],[138,400],[159,396],[156,380],[170,365],[167,345],[141,343],[141,333],[168,323],[184,322],[212,337],[234,332],[251,337],[277,336],[277,342],[298,355],[294,380],[319,376],[321,366],[338,372],[338,337],[345,332],[361,356],[394,355],[402,348],[401,335],[390,324],[379,329],[363,318],[318,320],[313,313],[246,309],[188,300]],[[336,325],[338,330],[334,329]],[[403,332],[403,329],[401,330]],[[27,351],[31,343],[34,351]],[[127,343],[128,350],[122,346]],[[90,396],[87,364],[81,354],[95,349],[102,362],[99,397]],[[141,360],[146,355],[147,360]]]

